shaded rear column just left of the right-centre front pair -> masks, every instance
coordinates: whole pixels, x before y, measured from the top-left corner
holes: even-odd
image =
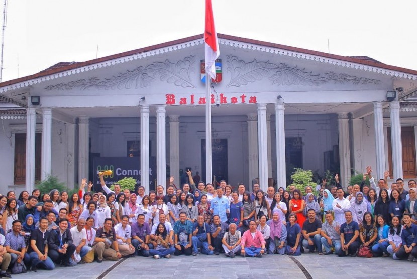
[[[258,116],[255,113],[248,115],[248,163],[249,163],[249,183],[259,177],[258,172]],[[252,189],[252,185],[249,185]]]

